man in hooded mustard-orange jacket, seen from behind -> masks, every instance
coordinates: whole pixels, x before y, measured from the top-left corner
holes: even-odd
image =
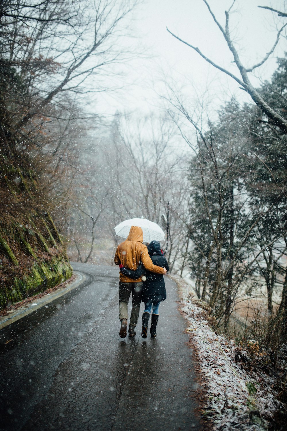
[[[139,226],[132,226],[127,239],[117,246],[114,263],[135,271],[139,262],[142,262],[148,271],[157,274],[166,274],[167,270],[165,268],[161,268],[152,263],[151,258],[148,256],[147,247],[142,244],[142,239],[142,228]],[[127,336],[127,305],[131,293],[133,297],[133,308],[130,315],[129,336],[134,337],[136,335],[135,328],[139,318],[139,308],[142,302],[142,279],[138,278],[137,280],[133,280],[120,273],[119,309],[121,338]]]

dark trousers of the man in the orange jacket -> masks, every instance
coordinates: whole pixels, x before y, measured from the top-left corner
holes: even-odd
[[[139,319],[139,309],[142,302],[142,283],[122,283],[119,282],[119,309],[120,320],[127,319],[127,305],[129,303],[130,294],[133,297],[133,308],[130,315],[130,325],[136,326]]]

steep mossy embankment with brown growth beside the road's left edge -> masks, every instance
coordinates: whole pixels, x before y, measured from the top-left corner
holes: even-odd
[[[70,278],[65,242],[28,166],[0,155],[0,308]]]

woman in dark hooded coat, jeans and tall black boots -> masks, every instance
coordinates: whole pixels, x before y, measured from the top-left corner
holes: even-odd
[[[148,245],[148,254],[154,265],[161,266],[169,271],[170,268],[168,266],[167,259],[164,257],[164,253],[160,250],[160,243],[158,241],[151,241]],[[132,278],[133,276],[138,278],[141,274],[145,274],[146,280],[143,282],[142,289],[142,300],[145,303],[145,311],[142,315],[142,338],[146,338],[148,335],[148,321],[151,315],[151,309],[151,337],[156,337],[158,307],[161,301],[167,299],[164,276],[146,270],[144,272],[142,266],[139,266],[136,271],[131,271],[130,269],[123,267],[120,271]],[[126,274],[126,272],[128,272],[128,274]],[[143,276],[142,280],[144,280],[145,277]]]

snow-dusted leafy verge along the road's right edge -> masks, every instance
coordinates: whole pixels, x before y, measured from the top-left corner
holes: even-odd
[[[172,276],[179,287],[180,309],[188,322],[187,332],[200,368],[206,397],[203,416],[214,430],[263,430],[278,408],[272,381],[265,373],[247,372],[235,362],[238,348],[210,327],[206,304],[196,299],[190,286]]]

